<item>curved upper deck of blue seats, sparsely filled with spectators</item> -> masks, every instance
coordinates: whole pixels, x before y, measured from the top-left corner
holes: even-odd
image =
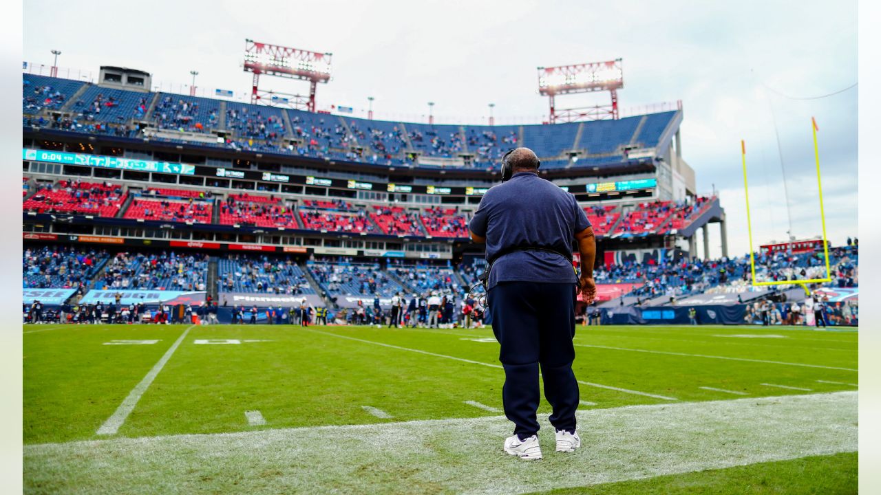
[[[33,74],[22,78],[22,114],[25,127],[385,166],[485,168],[527,146],[544,169],[590,170],[646,161],[681,122],[680,111],[552,125],[385,122]]]

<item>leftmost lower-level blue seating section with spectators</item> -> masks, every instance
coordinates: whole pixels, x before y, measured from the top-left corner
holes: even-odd
[[[26,289],[81,289],[104,262],[107,262],[107,252],[103,250],[26,247],[21,256],[22,284]]]

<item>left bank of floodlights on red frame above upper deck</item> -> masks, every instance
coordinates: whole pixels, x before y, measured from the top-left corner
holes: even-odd
[[[246,72],[254,74],[251,103],[264,105],[282,103],[315,112],[315,90],[318,83],[326,84],[330,80],[332,56],[333,54],[330,53],[245,40],[243,68]],[[309,81],[309,95],[261,92],[257,87],[261,74]]]

